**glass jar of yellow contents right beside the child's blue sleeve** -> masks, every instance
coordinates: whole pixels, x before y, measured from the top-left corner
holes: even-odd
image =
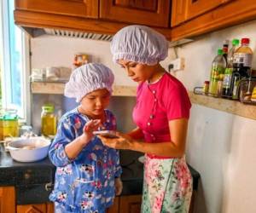
[[[41,113],[41,134],[52,136],[56,134],[57,118],[55,116],[55,107],[52,104],[45,104]]]

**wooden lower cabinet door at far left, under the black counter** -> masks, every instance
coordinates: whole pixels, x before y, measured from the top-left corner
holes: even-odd
[[[15,187],[0,187],[0,213],[15,213]]]

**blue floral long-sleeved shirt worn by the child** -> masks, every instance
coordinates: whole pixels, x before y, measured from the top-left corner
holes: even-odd
[[[105,110],[106,130],[116,130],[112,112]],[[105,212],[113,204],[114,178],[121,175],[119,152],[106,147],[94,137],[79,153],[69,159],[65,146],[83,134],[90,119],[75,108],[61,118],[55,140],[49,147],[49,158],[55,164],[55,188],[49,199],[73,212]]]

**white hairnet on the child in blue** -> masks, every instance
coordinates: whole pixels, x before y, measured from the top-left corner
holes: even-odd
[[[75,69],[65,85],[64,95],[79,102],[84,95],[96,89],[108,89],[112,93],[113,72],[99,63],[89,63]]]

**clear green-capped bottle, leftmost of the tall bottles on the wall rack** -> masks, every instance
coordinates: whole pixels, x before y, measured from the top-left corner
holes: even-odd
[[[226,60],[223,56],[223,50],[218,49],[218,55],[212,61],[212,72],[209,85],[209,93],[217,96],[218,95],[218,81],[223,81],[224,69],[226,67]]]

